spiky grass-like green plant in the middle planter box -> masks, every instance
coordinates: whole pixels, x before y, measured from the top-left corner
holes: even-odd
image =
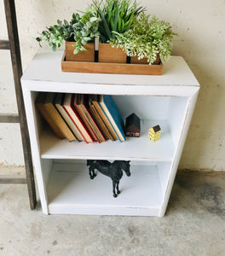
[[[115,38],[114,32],[124,33],[134,17],[145,11],[136,0],[93,0],[96,15],[101,18],[99,32],[102,43]]]

